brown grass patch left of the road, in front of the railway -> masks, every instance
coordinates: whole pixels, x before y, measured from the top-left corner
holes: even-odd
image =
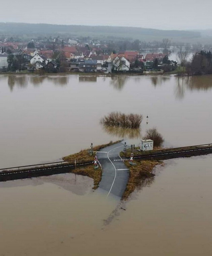
[[[95,170],[93,165],[77,168],[76,170],[71,170],[71,172],[92,178],[94,180],[93,189],[97,189],[99,187],[99,182],[102,179],[102,169],[99,167]]]

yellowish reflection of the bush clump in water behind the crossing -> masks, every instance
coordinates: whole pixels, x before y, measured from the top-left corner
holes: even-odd
[[[141,129],[130,129],[122,127],[113,127],[103,125],[103,129],[109,135],[117,136],[125,139],[138,139],[141,138]]]

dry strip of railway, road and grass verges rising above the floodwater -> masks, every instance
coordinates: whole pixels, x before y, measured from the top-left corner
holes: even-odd
[[[93,178],[93,189],[97,189],[100,184],[100,188],[108,195],[111,193],[126,200],[142,182],[154,176],[152,171],[156,165],[163,163],[161,160],[211,154],[212,144],[146,152],[135,149],[133,162],[136,165],[133,166],[129,163],[131,150],[119,154],[122,149],[123,144],[120,142],[94,147],[100,165],[98,169],[94,169],[94,155],[91,156],[89,149],[85,149],[65,157],[62,162],[0,169],[0,181],[71,172]]]

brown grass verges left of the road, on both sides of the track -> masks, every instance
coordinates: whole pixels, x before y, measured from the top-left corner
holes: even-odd
[[[115,144],[117,142],[120,142],[120,141],[116,141],[116,142],[110,141],[108,144],[94,146],[93,151],[98,151],[101,148],[110,146],[110,145]],[[76,162],[93,161],[95,154],[93,156],[90,156],[89,150],[90,149],[83,149],[78,153],[74,153],[74,154],[68,155],[67,157],[64,157],[63,160],[64,161],[74,161],[74,160],[76,160]],[[93,165],[90,165],[90,166],[87,166],[87,167],[79,167],[79,168],[76,168],[76,170],[71,170],[71,172],[75,173],[75,174],[84,175],[84,176],[88,176],[88,177],[92,178],[94,180],[93,189],[97,189],[99,187],[99,183],[102,179],[102,169],[99,167],[98,169],[95,170]]]

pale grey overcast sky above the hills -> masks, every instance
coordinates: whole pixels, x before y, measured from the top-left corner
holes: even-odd
[[[211,0],[5,0],[0,22],[212,28]]]

